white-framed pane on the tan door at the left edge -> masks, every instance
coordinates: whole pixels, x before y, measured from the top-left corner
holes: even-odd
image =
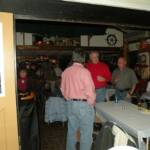
[[[0,22],[0,97],[5,96],[3,50],[3,24]]]

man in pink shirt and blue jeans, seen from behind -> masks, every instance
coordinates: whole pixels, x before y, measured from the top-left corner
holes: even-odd
[[[80,150],[90,150],[94,122],[95,87],[90,72],[83,66],[83,51],[73,52],[73,65],[62,74],[61,91],[67,100],[67,150],[76,150],[76,131],[80,129]]]

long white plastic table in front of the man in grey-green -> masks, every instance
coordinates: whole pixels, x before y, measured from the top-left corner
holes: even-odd
[[[96,112],[102,121],[112,121],[138,138],[139,150],[148,149],[150,137],[150,114],[138,110],[138,107],[126,101],[100,102]],[[146,138],[146,143],[143,141]]]

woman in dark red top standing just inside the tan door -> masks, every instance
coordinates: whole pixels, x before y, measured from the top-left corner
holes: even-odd
[[[21,150],[39,150],[38,119],[35,94],[31,83],[27,75],[27,70],[20,69],[17,85]]]

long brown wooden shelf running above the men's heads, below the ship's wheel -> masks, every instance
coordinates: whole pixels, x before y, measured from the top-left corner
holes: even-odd
[[[100,51],[102,54],[120,54],[121,48],[111,48],[111,47],[64,47],[64,46],[17,46],[16,54],[17,56],[39,56],[39,55],[71,55],[72,51],[81,48],[85,52],[91,50]]]

